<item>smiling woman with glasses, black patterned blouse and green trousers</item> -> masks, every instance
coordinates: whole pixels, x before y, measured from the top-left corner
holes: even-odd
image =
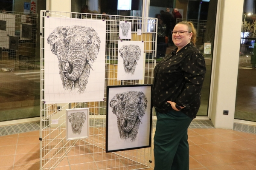
[[[196,31],[191,22],[178,23],[172,41],[177,48],[154,68],[154,170],[189,170],[187,130],[198,112],[206,73],[204,56],[195,47]]]

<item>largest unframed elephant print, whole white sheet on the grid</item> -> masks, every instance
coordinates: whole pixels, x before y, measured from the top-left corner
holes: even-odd
[[[103,101],[106,21],[44,19],[46,103]]]

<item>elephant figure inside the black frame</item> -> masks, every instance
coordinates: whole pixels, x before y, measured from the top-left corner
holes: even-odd
[[[121,139],[136,140],[147,105],[148,100],[141,91],[118,93],[111,99],[110,106],[117,117],[117,128]]]

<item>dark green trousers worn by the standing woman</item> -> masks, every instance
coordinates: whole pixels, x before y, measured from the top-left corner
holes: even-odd
[[[174,110],[156,114],[154,170],[189,170],[188,127],[192,118]]]

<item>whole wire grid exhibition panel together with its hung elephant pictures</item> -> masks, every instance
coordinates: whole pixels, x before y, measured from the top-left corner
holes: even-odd
[[[41,11],[41,170],[151,167],[156,32],[155,18]],[[118,92],[145,108],[126,136],[107,115]]]

